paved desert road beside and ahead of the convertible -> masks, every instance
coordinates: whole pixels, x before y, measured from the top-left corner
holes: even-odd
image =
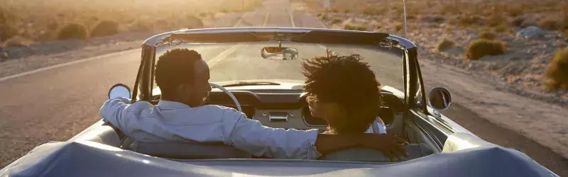
[[[247,13],[236,13],[219,19],[212,27],[244,27],[244,26],[280,26],[302,28],[325,28],[315,16],[292,11],[287,1],[266,1],[263,8]],[[303,79],[297,72],[300,60],[273,64],[269,61],[248,61],[245,56],[257,55],[250,53],[249,48],[260,49],[261,45],[224,45],[223,47],[201,50],[204,59],[212,71],[212,81],[215,79],[275,79],[285,75],[285,79]],[[324,55],[325,46],[302,47],[300,58]],[[307,50],[309,48],[309,50]],[[330,47],[333,48],[333,47]],[[372,56],[364,50],[348,50],[334,48],[344,53],[361,53]],[[344,51],[343,51],[344,50]],[[242,53],[238,51],[247,51]],[[254,50],[258,51],[258,50]],[[23,156],[33,147],[48,141],[65,141],[84,130],[100,119],[99,108],[107,98],[110,86],[116,83],[133,85],[140,60],[141,50],[126,50],[113,53],[87,62],[56,67],[42,72],[18,76],[4,81],[0,80],[0,166],[6,166],[11,161]],[[379,58],[389,58],[379,56]],[[394,57],[390,57],[394,58]],[[395,60],[383,59],[382,64],[397,64]],[[241,68],[258,64],[256,72],[243,71],[239,76],[233,73]],[[400,63],[402,64],[402,63]],[[381,66],[381,64],[373,64]],[[401,65],[399,65],[401,66]],[[295,68],[295,69],[288,69]],[[373,68],[381,78],[381,84],[400,88],[402,83],[399,73],[393,67]],[[293,71],[293,72],[291,72]],[[401,72],[401,69],[400,69]],[[425,77],[427,75],[425,74]],[[426,89],[435,85],[425,83]],[[460,125],[474,132],[479,137],[506,147],[522,149],[533,159],[543,164],[560,176],[568,175],[568,161],[562,159],[551,149],[543,147],[515,132],[493,125],[479,118],[476,113],[454,101],[444,115],[454,119]]]

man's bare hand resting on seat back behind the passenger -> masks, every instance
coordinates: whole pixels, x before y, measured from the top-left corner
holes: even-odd
[[[383,152],[391,161],[396,157],[403,160],[401,156],[408,156],[403,149],[403,144],[408,144],[404,139],[387,134],[364,134],[361,135],[361,145],[366,148],[376,149]]]

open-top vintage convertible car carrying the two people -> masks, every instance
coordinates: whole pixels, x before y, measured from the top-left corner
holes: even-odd
[[[557,176],[523,152],[486,142],[439,113],[451,96],[443,88],[425,91],[418,48],[405,38],[315,28],[163,33],[143,43],[132,87],[116,84],[109,98],[158,103],[155,63],[173,48],[197,50],[209,64],[214,89],[208,104],[236,108],[268,127],[322,132],[327,122],[310,114],[300,63],[327,52],[359,54],[381,82],[384,101],[377,105],[380,120],[367,133],[403,137],[410,142],[404,147],[408,156],[391,161],[368,149],[343,149],[316,160],[269,159],[216,142],[137,142],[100,120],[67,142],[35,147],[1,176]]]

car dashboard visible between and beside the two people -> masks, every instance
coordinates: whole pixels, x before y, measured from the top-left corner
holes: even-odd
[[[327,121],[311,115],[306,95],[298,90],[238,90],[231,91],[239,101],[247,118],[258,120],[262,125],[274,128],[297,130],[327,129]],[[389,92],[381,92],[383,102],[379,117],[388,126],[404,110],[400,98]],[[208,104],[236,108],[226,93],[213,90],[209,93]]]

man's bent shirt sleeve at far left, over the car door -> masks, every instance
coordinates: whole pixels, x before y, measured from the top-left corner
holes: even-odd
[[[131,108],[130,100],[128,98],[115,98],[109,99],[104,102],[101,107],[100,113],[104,120],[109,121],[114,127],[118,128],[126,135],[129,121],[128,111]]]

